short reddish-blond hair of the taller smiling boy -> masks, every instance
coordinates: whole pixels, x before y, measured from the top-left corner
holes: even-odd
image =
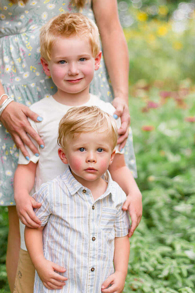
[[[40,31],[41,56],[47,61],[51,60],[51,48],[58,37],[76,35],[89,38],[94,58],[100,50],[97,25],[81,13],[61,13],[51,18]]]

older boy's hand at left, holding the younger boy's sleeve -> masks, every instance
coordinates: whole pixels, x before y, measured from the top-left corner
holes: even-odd
[[[38,228],[41,226],[41,221],[35,215],[33,208],[41,206],[40,202],[30,196],[28,193],[16,196],[16,210],[20,221],[30,228]]]

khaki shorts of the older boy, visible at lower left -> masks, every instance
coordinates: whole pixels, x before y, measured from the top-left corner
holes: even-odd
[[[27,251],[20,249],[13,293],[33,293],[35,269]]]

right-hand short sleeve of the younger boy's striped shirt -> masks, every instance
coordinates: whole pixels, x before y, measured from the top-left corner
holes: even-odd
[[[123,237],[128,234],[128,230],[130,229],[130,219],[128,211],[123,211],[122,206],[117,212],[114,229],[115,229],[115,237]]]

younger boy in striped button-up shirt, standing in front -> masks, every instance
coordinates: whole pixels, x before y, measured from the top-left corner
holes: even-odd
[[[72,108],[62,118],[58,154],[69,168],[33,195],[42,202],[35,209],[42,226],[25,228],[40,277],[35,274],[34,293],[123,291],[130,222],[122,210],[126,195],[107,171],[117,137],[114,119],[96,106]]]

